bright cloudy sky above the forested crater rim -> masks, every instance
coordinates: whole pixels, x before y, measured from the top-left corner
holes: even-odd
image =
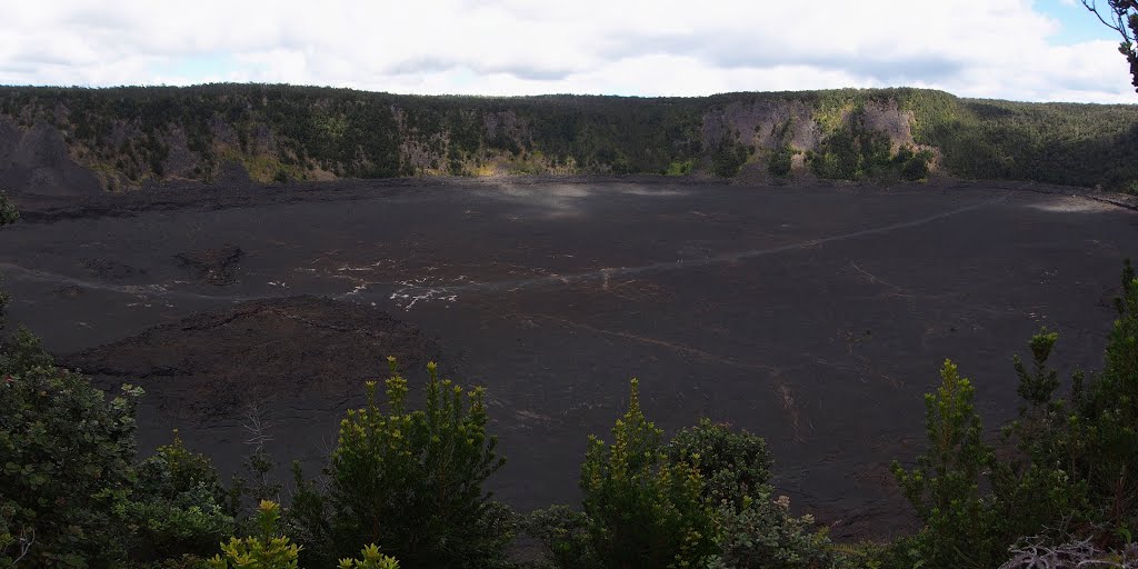
[[[11,0],[0,22],[0,84],[1138,102],[1079,0]]]

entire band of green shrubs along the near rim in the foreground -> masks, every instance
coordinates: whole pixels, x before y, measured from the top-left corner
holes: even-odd
[[[18,222],[3,195],[0,212],[0,225]],[[368,381],[366,404],[340,421],[316,476],[294,463],[286,492],[267,476],[274,459],[255,446],[248,475],[224,483],[176,431],[138,456],[142,390],[124,385],[108,399],[20,327],[0,335],[0,567],[1129,569],[1138,566],[1129,262],[1121,281],[1100,371],[1065,381],[1049,363],[1058,336],[1034,335],[1030,358],[1008,370],[1021,407],[999,440],[986,439],[971,381],[945,362],[924,401],[924,452],[892,464],[922,528],[883,543],[835,544],[809,514],[791,514],[756,434],[702,420],[666,439],[635,379],[611,436],[589,437],[577,506],[519,513],[496,502],[486,481],[509,464],[484,390],[442,378],[434,363],[412,384],[391,357],[387,380]],[[421,409],[410,409],[419,389]],[[512,556],[519,536],[542,556]]]

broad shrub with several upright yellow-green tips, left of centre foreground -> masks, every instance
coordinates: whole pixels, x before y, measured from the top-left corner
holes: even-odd
[[[369,382],[366,406],[340,422],[328,495],[337,550],[378,543],[411,567],[500,562],[509,517],[484,484],[505,461],[486,432],[483,389],[464,393],[430,363],[426,406],[407,411],[407,382],[389,362],[387,409]]]

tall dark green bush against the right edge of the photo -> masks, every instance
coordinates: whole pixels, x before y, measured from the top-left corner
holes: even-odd
[[[1017,357],[1019,418],[1005,427],[1015,454],[992,469],[992,531],[1005,539],[1041,535],[1052,543],[1092,537],[1121,546],[1138,534],[1138,281],[1127,262],[1122,297],[1100,373],[1077,372],[1070,403],[1056,398],[1047,366],[1058,336],[1046,329]]]

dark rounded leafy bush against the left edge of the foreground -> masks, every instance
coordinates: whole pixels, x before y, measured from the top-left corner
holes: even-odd
[[[142,391],[124,386],[107,402],[82,376],[43,361],[0,354],[0,566],[20,556],[27,566],[114,564],[129,534]]]

